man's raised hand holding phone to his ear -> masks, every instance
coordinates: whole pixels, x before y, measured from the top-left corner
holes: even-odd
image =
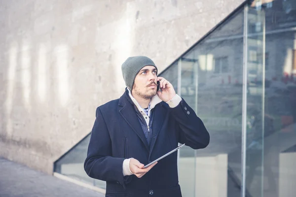
[[[157,77],[157,81],[159,81],[159,87],[161,89],[161,92],[157,91],[159,98],[165,102],[173,99],[176,95],[173,85],[163,77]]]

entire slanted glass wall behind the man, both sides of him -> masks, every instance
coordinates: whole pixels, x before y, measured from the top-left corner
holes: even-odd
[[[184,197],[296,194],[296,0],[251,0],[160,73],[203,120],[207,148],[179,151]],[[55,171],[83,170],[89,136]]]

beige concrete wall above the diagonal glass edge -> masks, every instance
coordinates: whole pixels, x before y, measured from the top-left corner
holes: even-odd
[[[52,172],[124,91],[121,63],[163,70],[243,0],[0,0],[0,156]]]

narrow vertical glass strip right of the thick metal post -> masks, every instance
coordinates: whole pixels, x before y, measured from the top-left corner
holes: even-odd
[[[247,14],[246,197],[263,192],[265,11],[258,6],[251,5]]]

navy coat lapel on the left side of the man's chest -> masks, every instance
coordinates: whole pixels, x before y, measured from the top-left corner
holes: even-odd
[[[145,147],[149,151],[148,142],[138,120],[134,106],[129,100],[127,100],[125,94],[119,99],[119,105],[122,106],[122,108],[119,109],[119,113],[127,122],[127,124],[132,128],[132,130],[140,137]]]

